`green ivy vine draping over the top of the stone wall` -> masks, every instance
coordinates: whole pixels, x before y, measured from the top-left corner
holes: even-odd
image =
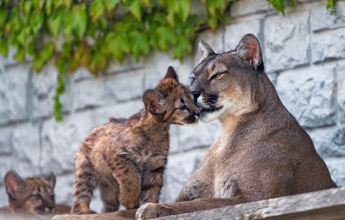
[[[61,121],[59,97],[68,71],[84,66],[97,76],[109,61],[122,62],[126,54],[138,61],[152,48],[174,48],[174,58],[182,61],[200,29],[216,30],[225,22],[228,4],[238,0],[199,1],[207,19],[191,14],[191,0],[0,0],[0,53],[7,57],[9,46],[15,47],[13,58],[20,62],[30,54],[36,72],[55,59],[53,114]],[[327,4],[332,14],[335,1]],[[284,14],[284,0],[268,2]]]

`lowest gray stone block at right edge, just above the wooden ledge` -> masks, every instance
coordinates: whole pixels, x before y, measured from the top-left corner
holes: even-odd
[[[331,177],[338,187],[345,186],[345,159],[329,158],[325,160]]]

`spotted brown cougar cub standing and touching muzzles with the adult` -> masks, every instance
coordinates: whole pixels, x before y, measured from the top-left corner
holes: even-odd
[[[104,212],[157,203],[169,151],[169,126],[197,124],[200,110],[169,67],[155,89],[142,94],[145,107],[129,119],[110,118],[82,142],[75,158],[72,214],[89,214],[98,186]]]

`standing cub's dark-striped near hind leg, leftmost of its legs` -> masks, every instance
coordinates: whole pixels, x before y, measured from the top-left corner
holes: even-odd
[[[90,214],[90,202],[97,180],[92,163],[83,155],[76,156],[75,175],[71,214]]]

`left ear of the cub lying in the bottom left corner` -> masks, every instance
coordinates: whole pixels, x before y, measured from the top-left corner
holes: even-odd
[[[24,186],[24,181],[20,178],[18,173],[14,170],[8,171],[4,177],[4,183],[10,199],[18,199],[19,190]]]

